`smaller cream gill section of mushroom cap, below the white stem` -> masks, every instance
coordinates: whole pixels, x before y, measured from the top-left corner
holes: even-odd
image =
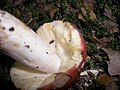
[[[14,64],[10,74],[15,86],[20,90],[36,90],[46,85],[47,83],[43,84],[43,81],[52,75],[31,69],[18,62]]]

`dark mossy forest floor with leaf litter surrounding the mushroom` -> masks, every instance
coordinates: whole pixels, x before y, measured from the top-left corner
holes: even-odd
[[[68,90],[120,90],[120,65],[116,69],[116,63],[108,64],[120,55],[118,0],[0,0],[0,9],[33,30],[53,20],[75,24],[86,41],[87,58],[82,73]],[[10,59],[0,52],[0,90],[16,90],[9,76],[14,62]]]

